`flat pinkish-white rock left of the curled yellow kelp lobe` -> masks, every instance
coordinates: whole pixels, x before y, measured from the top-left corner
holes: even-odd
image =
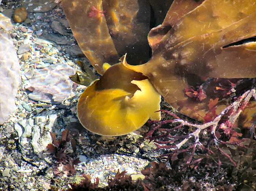
[[[53,64],[34,70],[34,76],[29,81],[34,91],[29,94],[29,98],[61,104],[70,95],[72,81],[69,75],[72,74],[74,74],[74,69],[68,64]]]

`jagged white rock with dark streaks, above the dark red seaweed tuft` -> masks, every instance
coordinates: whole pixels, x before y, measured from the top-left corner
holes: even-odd
[[[55,111],[41,112],[35,117],[31,140],[34,153],[40,153],[45,150],[47,145],[52,142],[50,132],[56,119],[57,114]]]

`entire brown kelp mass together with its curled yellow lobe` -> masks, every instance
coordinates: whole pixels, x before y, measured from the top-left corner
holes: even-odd
[[[157,111],[149,106],[159,101],[154,91],[181,113],[209,122],[245,92],[236,91],[240,79],[256,77],[256,0],[62,3],[80,48],[103,75],[77,108],[80,122],[96,134],[123,135],[142,126]],[[125,53],[129,64],[116,64]],[[116,65],[104,73],[104,63]],[[137,92],[145,92],[141,100],[124,104]],[[244,127],[255,119],[249,105],[238,120]]]

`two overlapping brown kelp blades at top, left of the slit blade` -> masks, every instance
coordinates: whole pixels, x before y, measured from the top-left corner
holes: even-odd
[[[150,58],[147,0],[63,0],[63,9],[81,50],[99,74],[128,53],[131,63]]]

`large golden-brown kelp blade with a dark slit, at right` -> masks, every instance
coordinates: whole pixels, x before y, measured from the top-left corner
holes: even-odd
[[[202,102],[189,99],[184,90],[191,84],[209,77],[256,77],[256,42],[227,46],[256,36],[256,2],[233,2],[205,0],[154,45],[149,62],[127,67],[149,77],[174,108],[202,120],[211,95]]]

